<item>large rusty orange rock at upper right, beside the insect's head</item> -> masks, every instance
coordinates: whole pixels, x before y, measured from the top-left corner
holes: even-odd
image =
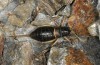
[[[95,21],[95,14],[91,0],[75,0],[68,25],[77,35],[89,35],[87,27]]]

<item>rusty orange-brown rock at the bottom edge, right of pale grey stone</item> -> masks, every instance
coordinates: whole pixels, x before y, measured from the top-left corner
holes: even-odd
[[[93,65],[81,50],[70,48],[68,51],[69,55],[66,56],[66,65]]]

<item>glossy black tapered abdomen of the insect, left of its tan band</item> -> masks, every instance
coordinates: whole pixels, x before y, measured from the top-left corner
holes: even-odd
[[[49,41],[55,39],[53,32],[53,27],[39,27],[30,34],[30,37],[41,42]]]

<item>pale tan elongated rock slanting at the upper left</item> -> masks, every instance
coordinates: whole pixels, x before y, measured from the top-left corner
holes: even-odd
[[[34,0],[27,0],[24,4],[17,6],[14,12],[9,16],[8,21],[12,25],[23,26],[31,17],[31,13],[35,7]]]

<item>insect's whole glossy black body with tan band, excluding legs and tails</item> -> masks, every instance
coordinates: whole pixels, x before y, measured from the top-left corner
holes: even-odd
[[[30,37],[41,42],[46,42],[53,40],[55,38],[68,36],[69,34],[70,34],[69,27],[44,26],[44,27],[39,27],[35,31],[33,31],[30,34]]]

